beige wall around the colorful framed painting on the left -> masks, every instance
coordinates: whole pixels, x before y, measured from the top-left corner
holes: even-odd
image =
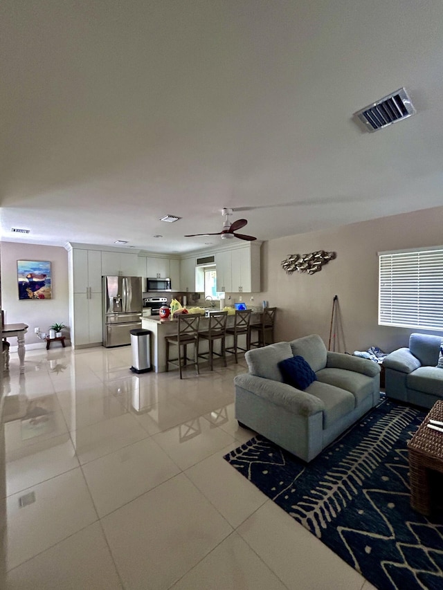
[[[48,260],[51,262],[53,299],[19,301],[17,287],[17,260]],[[1,243],[1,302],[5,322],[28,324],[26,346],[44,346],[37,338],[34,328],[47,332],[54,322],[69,324],[68,252],[54,246],[34,244]],[[67,332],[64,331],[67,335]],[[11,347],[15,342],[11,340]]]

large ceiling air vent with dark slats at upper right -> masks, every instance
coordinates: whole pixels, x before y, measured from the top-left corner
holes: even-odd
[[[385,98],[369,104],[361,111],[357,111],[354,116],[361,120],[370,133],[373,133],[392,125],[392,123],[407,119],[411,115],[415,115],[416,112],[408,93],[404,88],[401,88]]]

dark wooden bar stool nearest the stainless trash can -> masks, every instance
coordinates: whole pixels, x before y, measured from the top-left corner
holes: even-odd
[[[199,313],[180,313],[177,315],[178,317],[178,324],[177,324],[177,333],[171,334],[169,336],[165,336],[166,341],[166,371],[169,370],[169,365],[175,365],[179,367],[180,370],[180,378],[183,379],[181,374],[181,369],[183,367],[189,366],[188,360],[191,361],[190,365],[195,365],[197,369],[197,375],[200,374],[199,371],[199,322],[200,322],[200,314]],[[170,345],[173,344],[178,348],[178,358],[170,359]],[[187,354],[187,347],[188,344],[192,344],[194,347],[194,359],[188,358]],[[183,347],[183,354],[182,354],[182,347]],[[178,361],[178,362],[177,362]]]

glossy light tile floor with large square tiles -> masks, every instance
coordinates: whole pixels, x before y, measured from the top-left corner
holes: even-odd
[[[244,359],[183,380],[130,365],[129,347],[27,351],[19,376],[12,353],[0,588],[373,589],[222,459],[253,435]]]

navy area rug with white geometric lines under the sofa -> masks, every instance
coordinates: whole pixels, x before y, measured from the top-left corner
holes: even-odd
[[[409,504],[425,415],[385,401],[308,465],[262,436],[224,459],[379,590],[442,590],[443,519]]]

